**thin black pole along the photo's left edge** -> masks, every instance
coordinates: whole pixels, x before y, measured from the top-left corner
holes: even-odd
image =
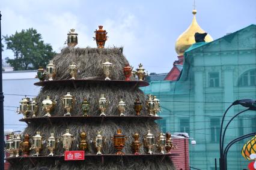
[[[4,169],[4,94],[2,93],[2,33],[1,33],[1,18],[0,11],[0,169]]]

